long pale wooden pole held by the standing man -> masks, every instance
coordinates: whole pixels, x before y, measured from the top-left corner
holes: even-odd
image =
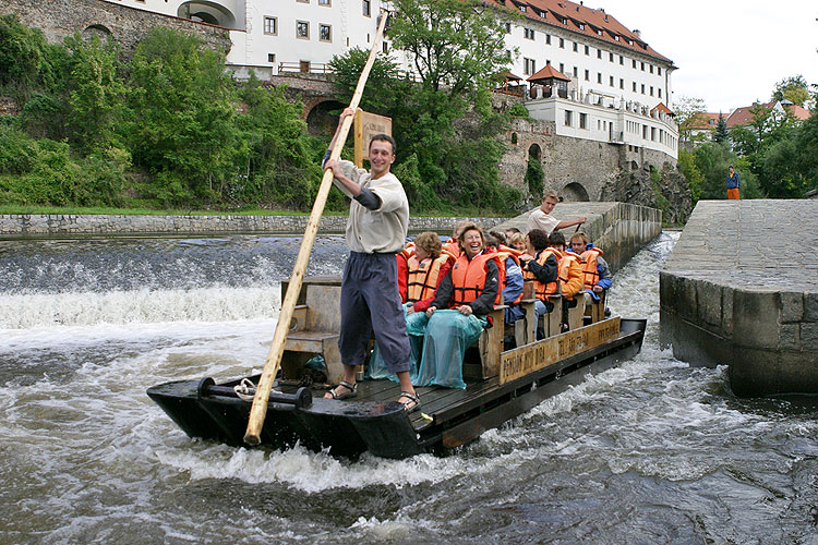
[[[361,95],[363,94],[363,87],[366,85],[366,78],[370,75],[372,65],[375,62],[375,57],[377,56],[377,49],[381,45],[381,37],[383,36],[384,27],[386,26],[388,12],[383,11],[381,15],[381,24],[377,26],[375,40],[372,43],[370,57],[366,60],[366,64],[363,66],[361,76],[358,78],[358,86],[352,95],[352,101],[349,102],[350,108],[358,108],[358,105],[361,101]],[[349,134],[349,126],[352,124],[352,119],[353,116],[347,116],[344,118],[338,138],[335,141],[335,146],[333,146],[329,154],[330,160],[337,160],[340,157],[344,143]],[[312,206],[312,213],[306,222],[304,239],[301,241],[301,247],[296,257],[296,265],[292,267],[292,276],[290,276],[287,295],[284,298],[284,302],[281,302],[281,313],[278,315],[278,324],[276,325],[276,332],[273,335],[273,343],[269,347],[267,360],[264,362],[262,377],[255,388],[253,405],[250,409],[250,419],[248,420],[248,429],[244,433],[244,443],[248,445],[258,445],[261,443],[262,426],[264,426],[264,417],[267,415],[269,390],[273,388],[273,380],[275,379],[276,374],[278,373],[278,367],[281,364],[281,354],[284,353],[284,344],[287,340],[287,331],[290,327],[290,320],[292,319],[292,313],[296,308],[298,294],[301,291],[301,284],[304,280],[304,270],[306,270],[306,264],[310,261],[312,245],[313,242],[315,242],[315,233],[318,230],[318,222],[321,221],[321,215],[324,213],[324,206],[326,205],[332,184],[333,171],[327,169],[324,171],[324,178],[321,180],[321,186],[318,187],[318,194],[315,197],[315,204]]]

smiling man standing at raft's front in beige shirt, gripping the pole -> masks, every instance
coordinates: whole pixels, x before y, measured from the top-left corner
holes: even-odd
[[[344,118],[353,116],[346,108],[329,149],[338,138]],[[398,402],[408,411],[420,407],[409,378],[410,348],[400,302],[395,255],[404,250],[409,229],[409,201],[400,180],[389,169],[395,162],[395,140],[376,134],[370,142],[368,172],[351,161],[326,160],[335,185],[351,197],[347,220],[349,258],[344,268],[340,298],[340,335],[338,348],[344,363],[344,380],[325,398],[348,399],[358,395],[356,367],[363,365],[373,331],[386,368],[400,383]]]

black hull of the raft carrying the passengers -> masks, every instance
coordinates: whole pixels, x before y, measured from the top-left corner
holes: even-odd
[[[262,445],[311,450],[356,458],[370,451],[402,459],[421,452],[455,448],[483,432],[525,413],[544,399],[636,355],[646,320],[622,319],[616,338],[580,351],[519,378],[500,384],[495,378],[468,384],[465,390],[418,388],[422,413],[407,414],[396,401],[399,386],[389,380],[364,380],[354,400],[314,398],[305,389],[282,387],[273,393],[261,432]],[[257,383],[256,377],[249,377]],[[216,386],[212,379],[181,380],[148,388],[147,395],[190,437],[244,446],[251,402],[232,393],[240,380]]]

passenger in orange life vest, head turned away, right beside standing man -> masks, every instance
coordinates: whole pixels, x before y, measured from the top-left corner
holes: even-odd
[[[428,322],[424,312],[429,308],[437,286],[448,274],[455,256],[441,245],[437,233],[420,233],[411,244],[412,255],[407,261],[407,296],[404,304],[406,312],[406,332],[409,335],[411,347],[410,372],[418,373],[418,361],[423,347],[423,328]],[[375,344],[370,356],[366,373],[370,378],[389,378],[398,382],[398,377],[386,368],[381,350]]]

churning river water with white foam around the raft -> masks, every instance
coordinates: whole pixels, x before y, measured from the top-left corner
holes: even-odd
[[[0,242],[0,543],[818,545],[818,408],[658,344],[664,233],[614,278],[641,353],[450,456],[188,438],[148,386],[260,370],[299,239]],[[337,275],[321,238],[309,274]]]

